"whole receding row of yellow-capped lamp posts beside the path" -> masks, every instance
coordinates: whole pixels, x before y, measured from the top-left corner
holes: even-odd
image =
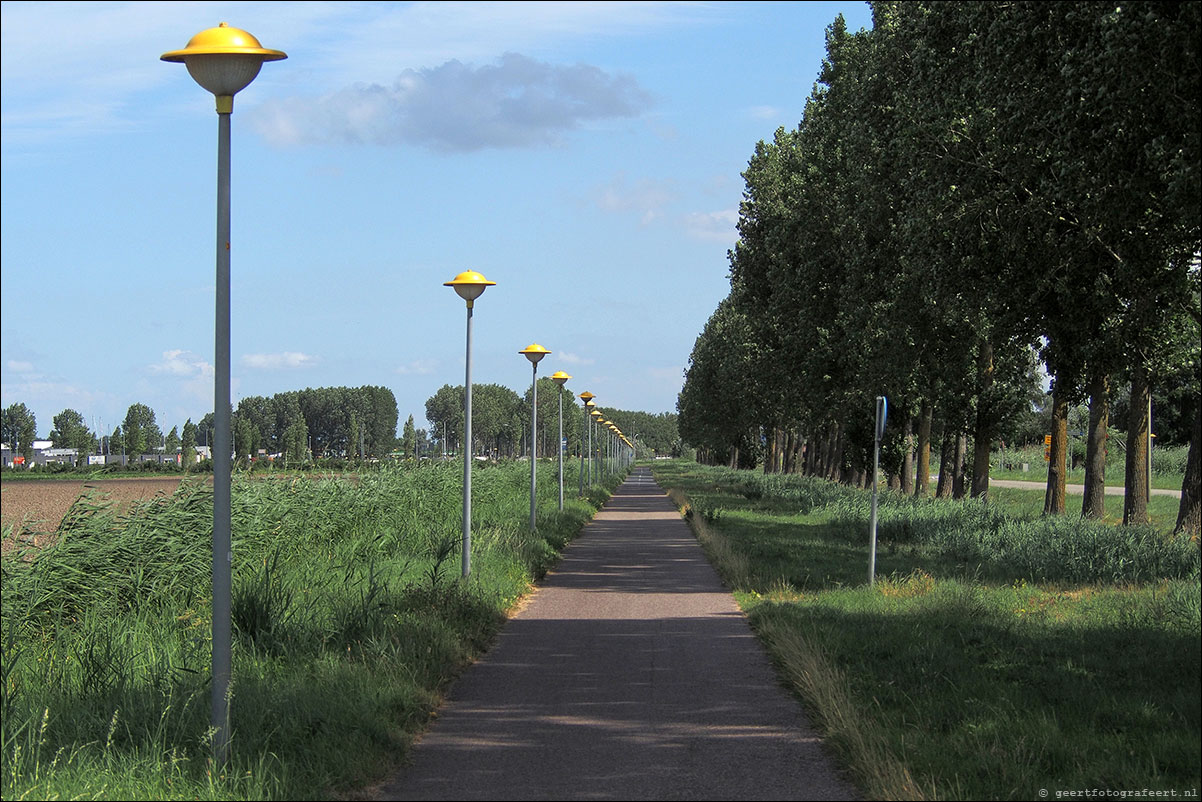
[[[230,675],[231,675],[231,574],[233,553],[230,542],[230,487],[231,487],[231,405],[230,405],[230,118],[233,114],[233,96],[245,89],[258,76],[264,61],[286,59],[282,51],[264,48],[257,38],[240,28],[221,23],[194,36],[182,51],[171,51],[161,57],[163,61],[183,63],[189,75],[216,99],[218,113],[218,209],[216,209],[216,309],[214,338],[213,380],[213,688],[212,727],[214,761],[224,765],[230,745]],[[471,571],[471,313],[476,298],[495,281],[480,273],[460,273],[446,285],[468,303],[466,364],[464,370],[464,462],[463,462],[463,575]],[[537,374],[538,362],[551,354],[534,344],[519,351],[534,368],[534,390],[530,426],[530,528],[535,528],[535,470],[536,422],[537,422]],[[563,390],[571,379],[559,372],[552,376]],[[591,403],[591,393],[585,404]],[[559,434],[559,507],[564,506],[564,400],[560,392]],[[600,412],[590,410],[600,417]],[[611,424],[612,426],[612,424]],[[615,430],[615,427],[614,427]],[[627,441],[629,442],[629,441]],[[589,450],[591,452],[591,427]],[[583,455],[582,455],[583,459]],[[591,459],[589,461],[591,483]],[[584,493],[583,474],[581,493]]]

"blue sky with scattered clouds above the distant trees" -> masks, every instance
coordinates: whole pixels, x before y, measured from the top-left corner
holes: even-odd
[[[540,375],[676,411],[726,296],[755,144],[864,2],[4,2],[0,404],[44,436],[213,406],[216,114],[159,57],[220,22],[285,51],[234,100],[233,402],[383,385],[400,422]]]

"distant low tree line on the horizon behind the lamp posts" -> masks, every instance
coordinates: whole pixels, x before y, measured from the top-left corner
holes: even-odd
[[[551,379],[538,380],[538,453],[555,453],[559,436],[559,387]],[[677,416],[597,408],[627,436],[636,436],[649,453],[679,455]],[[456,452],[463,440],[463,386],[445,385],[426,402],[432,430],[417,428],[413,416],[397,436],[397,399],[387,387],[319,387],[248,396],[232,410],[234,456],[248,461],[260,452],[280,455],[285,462],[311,458],[381,458],[398,452],[418,458],[439,451]],[[82,414],[66,409],[54,416],[49,439],[56,447],[76,448],[83,461],[91,453],[126,455],[161,451],[182,453],[185,468],[196,463],[198,446],[209,446],[213,414],[194,423],[163,433],[155,412],[145,404],[131,404],[124,421],[107,435],[93,433]],[[476,452],[496,457],[519,457],[529,452],[530,390],[524,396],[501,385],[472,386],[472,434]],[[32,461],[37,422],[25,404],[2,411],[5,442],[17,444]],[[564,388],[564,438],[569,453],[579,453],[584,432],[583,409]]]

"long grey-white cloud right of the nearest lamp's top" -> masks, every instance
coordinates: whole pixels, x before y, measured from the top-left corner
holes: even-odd
[[[583,123],[637,117],[649,95],[629,76],[506,53],[405,70],[389,87],[357,84],[320,99],[268,101],[251,124],[276,144],[419,145],[462,153],[555,143]]]

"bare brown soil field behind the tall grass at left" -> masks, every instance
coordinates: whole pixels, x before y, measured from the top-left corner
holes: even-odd
[[[179,487],[178,476],[153,479],[101,479],[89,481],[41,480],[0,482],[0,522],[12,524],[25,542],[43,546],[58,530],[63,516],[76,499],[88,492],[101,493],[118,505],[157,495],[171,495]],[[13,542],[4,539],[4,553]]]

